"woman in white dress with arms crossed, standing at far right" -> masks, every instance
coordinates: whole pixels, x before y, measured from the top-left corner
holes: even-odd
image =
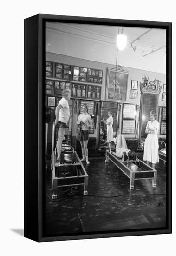
[[[143,160],[152,162],[152,168],[155,169],[155,164],[159,162],[158,155],[158,137],[157,133],[159,131],[159,123],[156,121],[156,112],[150,112],[150,121],[148,121],[147,126],[145,128],[145,133],[147,133],[147,138],[145,139],[144,152],[143,152]]]

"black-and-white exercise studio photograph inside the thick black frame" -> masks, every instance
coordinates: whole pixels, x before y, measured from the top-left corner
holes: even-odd
[[[45,33],[51,79],[71,83],[47,122],[45,236],[165,229],[166,29],[52,20]]]

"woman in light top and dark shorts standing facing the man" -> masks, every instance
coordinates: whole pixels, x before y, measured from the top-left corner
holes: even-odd
[[[77,124],[80,126],[80,144],[81,144],[81,150],[82,150],[82,159],[81,161],[86,161],[87,164],[89,164],[88,159],[88,149],[87,144],[89,140],[89,128],[91,127],[91,116],[87,113],[88,112],[88,106],[87,104],[83,104],[82,106],[83,113],[78,116]]]

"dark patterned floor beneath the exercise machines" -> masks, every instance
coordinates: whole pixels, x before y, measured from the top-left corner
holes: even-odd
[[[137,153],[139,159],[143,153]],[[130,190],[130,179],[105,158],[84,163],[89,175],[88,195],[83,189],[58,189],[52,201],[52,172],[46,179],[46,236],[123,229],[161,228],[165,226],[166,166],[156,164],[156,188],[149,180],[139,180]],[[71,193],[70,193],[71,192]],[[73,194],[74,193],[74,194]]]

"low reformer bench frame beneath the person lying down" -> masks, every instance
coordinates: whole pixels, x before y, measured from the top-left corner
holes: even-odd
[[[130,179],[130,189],[134,189],[136,180],[152,180],[152,187],[156,188],[157,171],[146,163],[139,160],[136,156],[129,160],[126,152],[123,152],[122,158],[117,157],[115,152],[106,150],[105,162],[113,162]]]

